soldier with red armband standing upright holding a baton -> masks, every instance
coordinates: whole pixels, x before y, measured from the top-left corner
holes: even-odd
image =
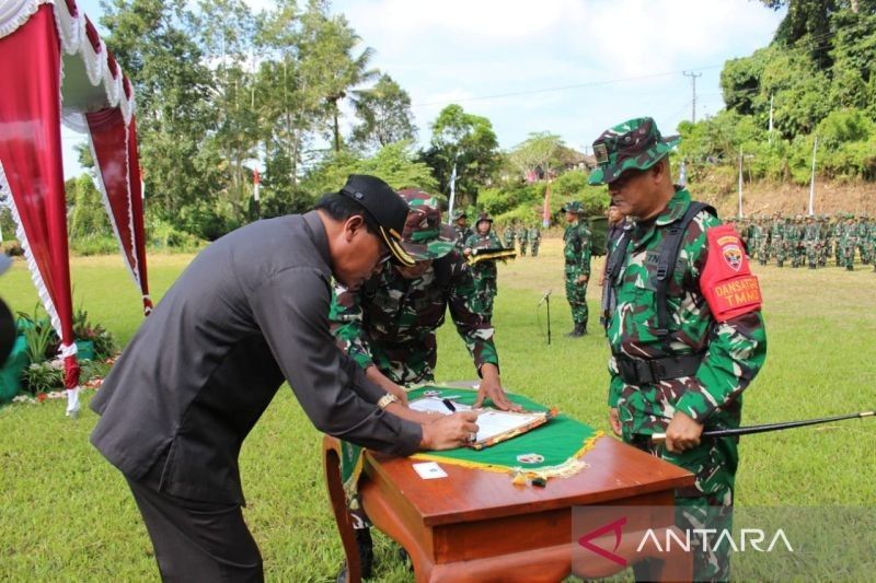
[[[695,474],[694,487],[676,492],[677,524],[721,533],[731,527],[737,443],[701,434],[739,425],[742,390],[763,364],[766,337],[741,242],[718,237],[727,228],[705,210],[683,233],[668,280],[668,326],[665,334],[657,329],[660,247],[691,205],[690,194],[671,183],[668,154],[677,143],[662,139],[652,118],[615,126],[593,143],[598,167],[590,184],[608,184],[612,202],[634,221],[629,244],[618,244],[624,255],[615,277],[607,281],[616,301],[608,330],[609,418],[625,442]],[[739,271],[728,276],[721,261]],[[705,277],[714,272],[724,279]],[[734,304],[722,291],[737,281],[751,294]],[[665,443],[652,440],[658,432],[666,433]],[[716,550],[714,543],[707,550],[694,545],[694,580],[728,579],[728,546]],[[636,578],[647,579],[642,567]]]

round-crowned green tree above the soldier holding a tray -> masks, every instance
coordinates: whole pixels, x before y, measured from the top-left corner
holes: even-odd
[[[451,104],[438,114],[431,132],[431,144],[423,153],[423,160],[431,166],[441,193],[449,194],[450,176],[456,165],[457,193],[461,203],[468,199],[476,206],[479,186],[488,184],[500,165],[493,124]]]

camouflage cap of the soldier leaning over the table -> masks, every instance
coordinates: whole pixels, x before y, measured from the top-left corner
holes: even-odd
[[[420,190],[399,190],[411,210],[404,223],[404,248],[416,260],[426,261],[443,257],[453,249],[453,228],[441,223],[438,199]]]

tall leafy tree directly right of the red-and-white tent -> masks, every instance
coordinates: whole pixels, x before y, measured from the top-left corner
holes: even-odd
[[[175,221],[180,210],[216,190],[218,152],[204,149],[212,129],[212,83],[185,0],[111,0],[101,23],[106,44],[134,85],[140,165],[149,212]]]

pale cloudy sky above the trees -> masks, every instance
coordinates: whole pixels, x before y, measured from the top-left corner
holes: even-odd
[[[99,0],[78,4],[96,24]],[[631,117],[675,132],[692,115],[684,71],[702,75],[698,119],[714,115],[724,62],[765,46],[784,15],[758,0],[336,0],[333,10],[411,94],[420,143],[458,103],[493,123],[503,149],[549,131],[580,151]],[[64,136],[65,174],[76,175],[82,138]]]

